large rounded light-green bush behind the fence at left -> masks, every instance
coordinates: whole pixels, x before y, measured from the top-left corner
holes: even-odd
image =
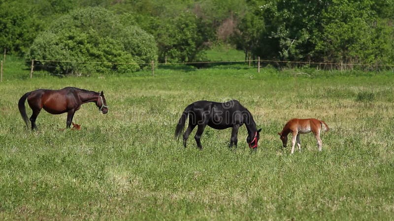
[[[141,28],[123,26],[109,11],[89,7],[55,20],[36,37],[27,57],[56,73],[124,73],[157,59],[157,46]]]

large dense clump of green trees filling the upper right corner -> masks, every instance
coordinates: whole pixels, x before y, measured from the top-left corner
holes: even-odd
[[[387,64],[394,3],[381,0],[250,1],[238,43],[266,59]],[[254,19],[248,19],[254,17]],[[256,24],[262,21],[263,26]],[[246,27],[246,28],[245,28]],[[246,34],[244,34],[246,33]],[[251,40],[255,39],[255,40]]]

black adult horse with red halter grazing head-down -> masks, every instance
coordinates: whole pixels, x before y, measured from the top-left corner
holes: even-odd
[[[189,126],[183,134],[183,146],[186,147],[187,140],[193,129],[197,127],[197,133],[194,137],[198,148],[202,149],[200,138],[206,125],[217,130],[232,128],[230,147],[236,146],[238,139],[238,129],[245,124],[248,130],[248,137],[246,142],[252,149],[257,149],[257,142],[260,139],[260,130],[257,130],[256,123],[253,120],[252,114],[244,108],[237,100],[231,100],[225,103],[218,103],[212,101],[197,101],[185,108],[181,118],[178,121],[175,130],[175,139],[179,139],[183,128],[185,127],[186,119],[189,116]]]

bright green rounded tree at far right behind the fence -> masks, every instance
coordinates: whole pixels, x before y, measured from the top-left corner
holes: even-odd
[[[322,13],[323,31],[317,34],[316,53],[335,63],[387,62],[393,57],[393,31],[375,10],[379,5],[371,0],[350,4],[333,0]]]

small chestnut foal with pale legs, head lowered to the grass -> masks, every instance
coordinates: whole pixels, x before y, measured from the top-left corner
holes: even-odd
[[[324,127],[325,131],[328,131],[328,125],[318,119],[309,118],[309,119],[298,119],[294,118],[289,120],[285,126],[283,127],[282,132],[278,133],[280,135],[280,139],[282,140],[283,147],[287,146],[287,135],[292,133],[292,154],[294,153],[294,146],[297,146],[298,150],[301,151],[301,141],[299,140],[300,134],[308,134],[312,132],[315,135],[317,146],[319,151],[322,151],[322,140],[320,139],[320,131]]]

